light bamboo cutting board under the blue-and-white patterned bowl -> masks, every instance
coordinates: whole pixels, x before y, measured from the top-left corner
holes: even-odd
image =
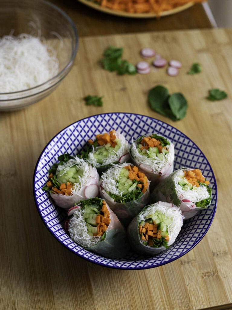
[[[105,47],[124,47],[123,58],[137,63],[142,47],[179,59],[177,77],[165,69],[148,75],[117,76],[101,68]],[[23,110],[0,113],[0,309],[228,309],[232,305],[231,129],[232,29],[153,32],[81,38],[75,65],[47,98]],[[191,64],[203,72],[187,75]],[[161,84],[182,92],[189,108],[173,122],[147,103]],[[205,99],[208,90],[228,93]],[[103,95],[103,106],[86,106],[86,95]],[[208,158],[217,179],[216,216],[200,243],[161,267],[127,271],[79,258],[58,243],[38,215],[33,171],[49,140],[83,117],[134,112],[158,118],[192,139]]]

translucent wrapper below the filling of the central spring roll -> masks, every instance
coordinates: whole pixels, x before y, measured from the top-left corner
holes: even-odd
[[[137,200],[128,201],[126,203],[115,202],[100,184],[100,196],[105,199],[110,209],[114,211],[120,222],[127,226],[131,220],[147,205],[150,199],[149,186],[146,192]]]

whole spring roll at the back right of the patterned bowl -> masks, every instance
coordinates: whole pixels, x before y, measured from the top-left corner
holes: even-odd
[[[151,187],[173,171],[174,144],[160,135],[143,135],[132,141],[130,155],[151,181]]]

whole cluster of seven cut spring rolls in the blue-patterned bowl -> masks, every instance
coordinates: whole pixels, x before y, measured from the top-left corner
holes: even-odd
[[[43,186],[67,210],[65,230],[106,258],[132,249],[156,255],[176,240],[183,221],[206,209],[212,188],[198,167],[174,169],[174,144],[150,133],[131,144],[111,130],[81,153],[58,157]]]

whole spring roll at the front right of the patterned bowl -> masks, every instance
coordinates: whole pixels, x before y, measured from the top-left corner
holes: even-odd
[[[174,243],[183,225],[179,208],[158,201],[144,207],[127,228],[131,248],[138,254],[156,255]]]

